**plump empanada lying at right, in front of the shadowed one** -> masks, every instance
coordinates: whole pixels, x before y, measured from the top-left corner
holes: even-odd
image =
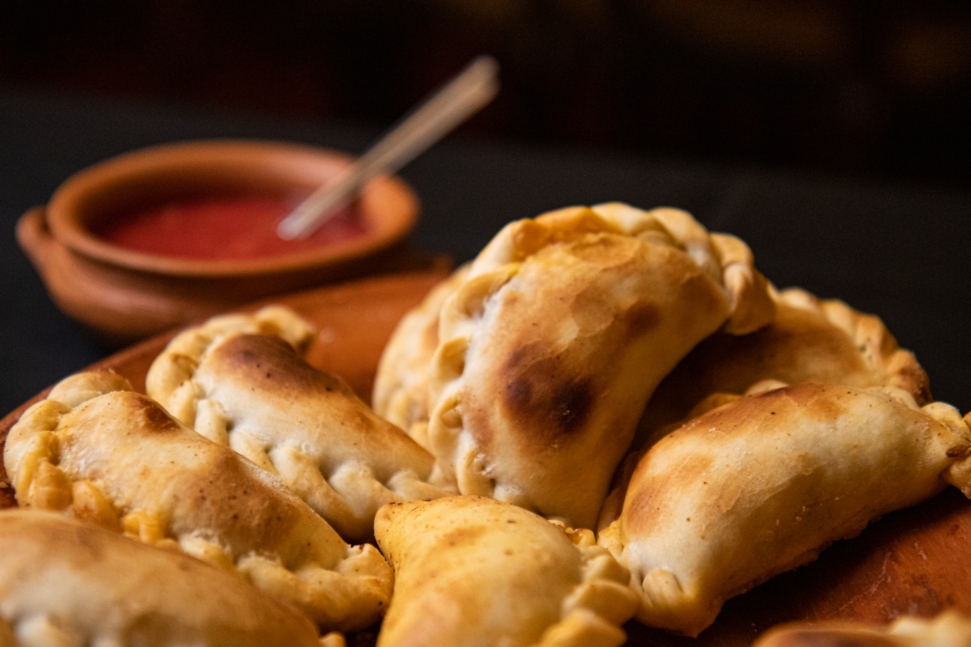
[[[638,620],[694,636],[727,598],[877,517],[946,483],[971,496],[969,456],[971,430],[942,402],[813,383],[763,392],[659,440],[599,541],[630,570]]]

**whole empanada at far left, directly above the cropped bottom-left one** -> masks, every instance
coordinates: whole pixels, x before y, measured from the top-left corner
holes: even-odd
[[[82,373],[24,412],[4,450],[21,507],[181,548],[326,629],[381,617],[392,572],[374,546],[349,546],[279,477],[128,388],[113,373]]]

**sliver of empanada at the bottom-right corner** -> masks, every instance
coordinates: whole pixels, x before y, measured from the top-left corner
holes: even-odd
[[[763,633],[753,647],[969,647],[971,621],[955,611],[926,620],[902,616],[888,627],[790,623]]]

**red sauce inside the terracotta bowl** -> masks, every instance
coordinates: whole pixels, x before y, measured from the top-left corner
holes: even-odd
[[[353,206],[303,240],[283,240],[277,224],[298,203],[285,198],[203,198],[174,202],[105,223],[102,240],[136,252],[196,260],[239,260],[304,252],[364,233]]]

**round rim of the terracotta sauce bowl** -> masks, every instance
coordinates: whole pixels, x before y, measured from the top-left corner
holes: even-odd
[[[419,199],[396,176],[370,181],[357,200],[365,233],[319,248],[262,258],[199,260],[151,255],[113,245],[88,228],[84,207],[113,187],[136,178],[164,177],[192,169],[266,173],[280,186],[313,190],[307,169],[336,171],[354,159],[333,149],[270,140],[204,139],[160,144],[121,153],[78,171],[59,187],[47,205],[47,221],[54,240],[75,253],[130,270],[185,277],[244,277],[298,272],[378,253],[403,238],[418,221]],[[303,166],[301,171],[298,167]],[[300,181],[302,180],[302,182]],[[259,192],[254,191],[254,192]]]

